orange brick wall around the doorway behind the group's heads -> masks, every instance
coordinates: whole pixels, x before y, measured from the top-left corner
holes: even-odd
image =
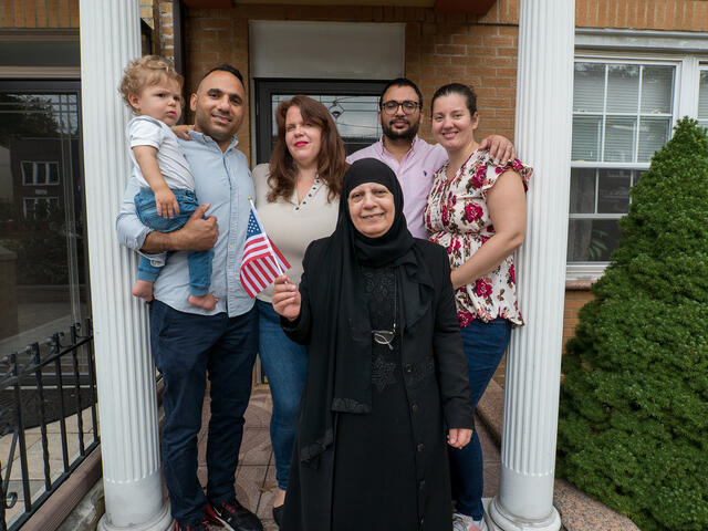
[[[420,86],[426,105],[442,84],[471,84],[479,95],[479,138],[490,133],[513,138],[517,6],[517,0],[499,0],[483,18],[372,6],[237,4],[233,9],[190,9],[185,24],[187,92],[194,91],[201,73],[217,63],[231,63],[248,77],[249,20],[405,22],[406,76]],[[247,116],[239,146],[250,155],[248,121]],[[420,136],[431,139],[429,122],[420,127]]]

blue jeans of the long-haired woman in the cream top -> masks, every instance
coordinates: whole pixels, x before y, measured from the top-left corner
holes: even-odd
[[[308,371],[308,350],[290,341],[280,327],[280,315],[270,302],[256,301],[258,308],[259,354],[273,397],[270,441],[275,456],[275,479],[288,488],[292,447],[298,429],[300,397]]]

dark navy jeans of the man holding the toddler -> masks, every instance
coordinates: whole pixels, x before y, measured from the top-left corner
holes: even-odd
[[[165,382],[165,481],[173,518],[180,524],[202,521],[207,501],[197,479],[197,434],[207,373],[211,383],[207,496],[214,503],[235,496],[243,413],[258,348],[257,324],[254,308],[228,317],[179,312],[157,300],[150,305],[150,344]]]

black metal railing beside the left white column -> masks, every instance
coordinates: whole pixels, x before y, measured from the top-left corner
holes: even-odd
[[[0,440],[9,441],[0,446],[7,452],[0,455],[0,531],[19,529],[98,445],[91,320],[86,320],[83,331],[79,323],[72,325],[69,343],[63,344],[65,340],[65,334],[58,332],[0,361]],[[84,409],[91,415],[88,430],[84,427]],[[75,431],[70,434],[67,418],[73,415]],[[48,426],[55,428],[56,425],[59,433],[48,431]],[[35,427],[39,427],[43,470],[35,472],[39,478],[31,478],[27,435]],[[77,437],[77,441],[73,437]],[[70,442],[77,442],[76,456],[70,455]],[[56,450],[52,455],[50,447],[55,448],[56,444],[61,456],[56,456]],[[12,475],[17,466],[20,480],[14,479],[17,473]],[[39,490],[32,492],[32,487]],[[23,511],[15,509],[18,503],[24,506]]]

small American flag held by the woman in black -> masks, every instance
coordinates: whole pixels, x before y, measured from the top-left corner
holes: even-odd
[[[283,274],[290,269],[290,264],[278,248],[266,236],[266,231],[251,202],[251,212],[248,217],[248,229],[246,232],[246,246],[243,247],[243,259],[241,260],[240,279],[241,285],[251,299],[254,299],[268,287],[279,274]]]

